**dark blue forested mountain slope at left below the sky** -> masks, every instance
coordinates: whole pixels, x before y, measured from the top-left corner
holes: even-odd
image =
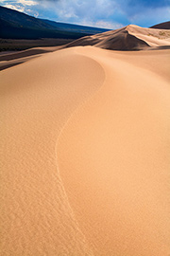
[[[56,23],[53,21],[35,18],[14,9],[0,7],[0,38],[77,39],[87,34],[94,34],[103,31],[106,31],[106,29]]]

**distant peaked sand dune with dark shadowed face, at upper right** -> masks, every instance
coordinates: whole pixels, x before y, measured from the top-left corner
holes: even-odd
[[[170,30],[128,25],[101,34],[85,36],[71,42],[71,46],[96,46],[111,50],[141,50],[148,47],[169,47]]]

